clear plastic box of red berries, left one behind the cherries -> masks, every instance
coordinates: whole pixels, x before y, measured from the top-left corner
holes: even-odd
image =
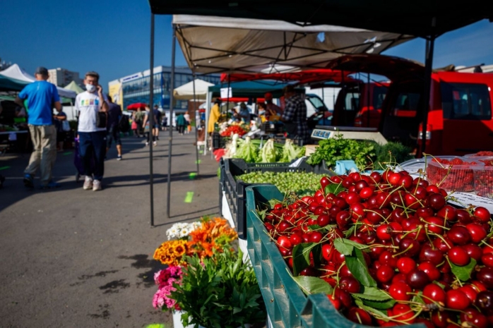
[[[473,167],[478,165],[482,166],[482,163],[472,159],[433,158],[427,165],[427,178],[447,191],[473,191]]]

